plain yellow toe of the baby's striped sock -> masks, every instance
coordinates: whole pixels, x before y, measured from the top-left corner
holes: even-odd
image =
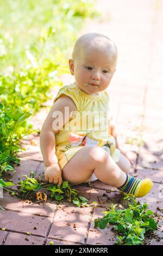
[[[134,196],[143,197],[151,190],[152,187],[153,187],[153,182],[151,179],[146,178],[144,180],[141,180],[136,187]]]

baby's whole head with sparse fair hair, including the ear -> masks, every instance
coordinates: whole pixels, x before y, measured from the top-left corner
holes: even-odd
[[[117,47],[107,36],[87,33],[76,41],[69,59],[76,85],[87,94],[105,90],[116,70]]]

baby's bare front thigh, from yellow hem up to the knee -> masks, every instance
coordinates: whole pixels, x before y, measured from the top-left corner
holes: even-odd
[[[73,185],[85,182],[105,155],[105,151],[98,146],[81,148],[62,169],[62,178]]]

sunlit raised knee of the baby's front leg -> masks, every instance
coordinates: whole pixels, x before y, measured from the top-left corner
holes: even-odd
[[[92,146],[89,151],[89,156],[93,161],[96,163],[103,163],[106,162],[108,159],[108,153],[101,147]]]

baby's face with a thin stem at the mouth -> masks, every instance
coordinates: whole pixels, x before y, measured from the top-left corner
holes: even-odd
[[[98,94],[105,90],[115,72],[115,57],[111,53],[87,48],[74,62],[77,86],[87,94]],[[71,70],[71,68],[70,68]]]

